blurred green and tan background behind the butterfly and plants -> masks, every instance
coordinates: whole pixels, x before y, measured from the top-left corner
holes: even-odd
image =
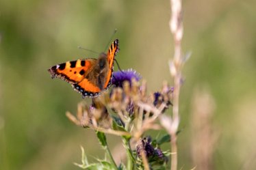
[[[79,145],[90,160],[103,158],[92,130],[69,122],[81,95],[52,80],[47,69],[64,61],[97,57],[114,38],[116,59],[146,79],[149,91],[172,82],[170,2],[0,1],[0,169],[79,169]],[[183,1],[183,68],[179,167],[192,169],[190,113],[195,87],[205,85],[216,103],[220,137],[214,169],[242,169],[256,158],[256,1]],[[116,68],[115,68],[116,69]],[[89,101],[89,100],[88,100]],[[120,141],[110,136],[113,150]],[[256,167],[251,164],[248,169]]]

